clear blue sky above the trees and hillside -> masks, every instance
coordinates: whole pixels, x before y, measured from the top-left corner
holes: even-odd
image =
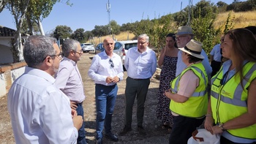
[[[56,3],[48,18],[42,20],[45,34],[51,34],[56,26],[69,26],[72,31],[83,28],[91,31],[94,26],[105,26],[109,23],[106,4],[108,0],[70,0],[72,7],[63,2]],[[135,23],[142,19],[160,18],[179,12],[188,6],[189,0],[109,0],[110,20],[118,25]],[[193,0],[195,5],[200,0]],[[214,4],[220,0],[211,0]],[[222,0],[231,4],[233,0]],[[245,1],[245,0],[241,0]],[[0,13],[0,26],[16,29],[15,20],[9,10]]]

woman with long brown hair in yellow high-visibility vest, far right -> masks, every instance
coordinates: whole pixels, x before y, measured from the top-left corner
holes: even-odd
[[[205,128],[221,134],[220,143],[256,143],[256,37],[228,31],[222,56],[229,60],[211,78]]]

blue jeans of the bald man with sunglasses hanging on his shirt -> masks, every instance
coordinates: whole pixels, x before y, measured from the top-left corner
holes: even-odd
[[[96,139],[102,138],[103,127],[105,134],[111,132],[111,121],[114,107],[116,105],[116,95],[118,86],[95,85],[95,100],[97,107],[96,118]]]

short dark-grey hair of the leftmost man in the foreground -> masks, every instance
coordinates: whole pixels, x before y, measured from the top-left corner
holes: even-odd
[[[42,35],[30,36],[24,45],[23,56],[29,67],[37,67],[47,56],[56,54],[53,44],[56,39]]]

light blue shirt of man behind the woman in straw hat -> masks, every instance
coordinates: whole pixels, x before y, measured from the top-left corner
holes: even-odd
[[[207,56],[205,50],[202,49],[201,55],[205,57],[205,58],[203,58],[202,64],[203,64],[203,67],[205,67],[205,69],[206,69],[206,73],[207,73],[208,77],[210,78],[212,69],[211,69],[211,65],[209,63],[209,59],[208,59],[208,56]],[[187,65],[184,64],[184,62],[182,61],[182,58],[181,58],[181,50],[179,50],[178,51],[178,60],[177,60],[177,65],[176,65],[176,77],[178,75],[180,75],[181,72],[184,69],[186,69],[186,67],[187,67]]]

